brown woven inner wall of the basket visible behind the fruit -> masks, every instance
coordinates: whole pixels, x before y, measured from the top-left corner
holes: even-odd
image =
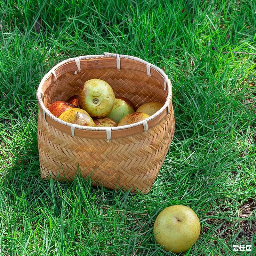
[[[85,81],[92,78],[105,80],[111,85],[116,96],[129,99],[135,108],[149,101],[164,103],[166,101],[167,92],[164,91],[163,78],[161,76],[148,76],[146,65],[142,63],[140,63],[140,65],[144,66],[145,71],[136,70],[134,67],[132,68],[132,66],[131,69],[122,68],[121,66],[121,70],[105,67],[81,67],[81,71],[77,72],[77,74],[74,74],[74,71],[65,72],[64,70],[62,74],[58,76],[56,82],[52,80],[50,84],[43,85],[44,106],[48,108],[54,101],[68,100],[69,97],[77,94],[78,88],[84,84]]]

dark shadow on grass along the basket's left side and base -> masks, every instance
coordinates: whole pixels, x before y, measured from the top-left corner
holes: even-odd
[[[32,140],[32,139],[31,139]],[[82,178],[79,169],[74,180],[59,181],[50,177],[42,179],[40,173],[37,139],[24,140],[20,153],[13,158],[10,167],[2,176],[2,195],[8,197],[9,204],[39,204],[54,207],[56,215],[61,213],[64,198],[69,196],[74,200],[77,194],[80,199],[90,201],[97,200],[98,207],[104,204],[112,205],[114,198],[134,196],[130,191],[111,190],[100,185],[92,185],[90,177]],[[71,195],[72,194],[72,195]]]

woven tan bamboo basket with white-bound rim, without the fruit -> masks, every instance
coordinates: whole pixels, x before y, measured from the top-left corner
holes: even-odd
[[[116,96],[128,98],[136,108],[149,101],[164,106],[141,122],[111,128],[70,124],[50,113],[52,102],[68,100],[92,78],[108,82]],[[36,97],[43,179],[72,180],[79,171],[92,185],[148,193],[174,134],[172,85],[162,69],[108,52],[70,58],[43,77]]]

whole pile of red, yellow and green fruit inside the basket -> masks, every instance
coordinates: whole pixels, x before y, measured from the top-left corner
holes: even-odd
[[[160,102],[148,102],[135,111],[130,100],[115,97],[107,82],[95,78],[86,81],[68,101],[55,101],[48,109],[71,124],[115,127],[140,122],[163,106]]]

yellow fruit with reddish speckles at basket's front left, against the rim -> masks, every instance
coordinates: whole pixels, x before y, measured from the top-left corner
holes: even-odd
[[[71,123],[71,124],[79,124],[79,125],[85,125],[85,126],[96,126],[94,124],[92,117],[89,116],[89,114],[81,109],[81,108],[72,108],[65,112],[63,112],[59,118],[65,122]]]

